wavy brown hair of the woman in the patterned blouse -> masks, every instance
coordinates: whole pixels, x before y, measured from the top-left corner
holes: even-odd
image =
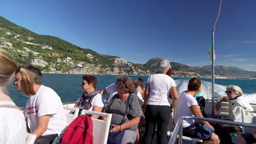
[[[134,93],[136,91],[135,86],[133,85],[132,79],[128,76],[125,76],[125,77],[118,76],[117,82],[115,82],[115,85],[121,91],[124,91],[127,93]]]

